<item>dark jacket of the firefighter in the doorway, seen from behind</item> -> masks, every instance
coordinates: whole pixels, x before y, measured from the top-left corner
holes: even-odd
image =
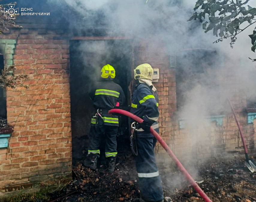
[[[100,82],[95,83],[94,88],[90,93],[91,100],[93,101],[94,108],[99,109],[102,115],[104,125],[118,126],[118,116],[108,114],[117,102],[122,105],[125,101],[124,91],[121,86],[112,80],[102,79]],[[96,119],[91,119],[92,126],[96,124]]]

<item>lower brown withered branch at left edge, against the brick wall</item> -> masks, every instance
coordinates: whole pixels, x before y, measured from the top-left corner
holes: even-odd
[[[28,75],[17,75],[17,76],[8,76],[10,71],[13,71],[15,67],[12,65],[8,68],[5,68],[0,74],[0,88],[16,88],[18,86],[29,88],[27,85],[22,83],[23,79],[28,79]]]

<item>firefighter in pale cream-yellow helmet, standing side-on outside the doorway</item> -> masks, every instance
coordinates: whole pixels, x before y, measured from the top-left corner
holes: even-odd
[[[137,83],[132,94],[131,113],[144,121],[136,123],[137,130],[134,137],[137,142],[137,156],[135,156],[138,172],[141,202],[163,201],[163,189],[154,147],[156,138],[150,133],[150,126],[159,132],[158,94],[152,84],[153,68],[150,64],[142,64],[135,68],[134,78]]]

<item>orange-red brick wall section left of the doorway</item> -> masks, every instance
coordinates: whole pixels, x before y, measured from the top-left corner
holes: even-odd
[[[14,73],[29,76],[29,89],[7,89],[14,132],[9,148],[0,149],[0,194],[71,179],[69,41],[57,36],[27,29],[0,35],[17,40]]]

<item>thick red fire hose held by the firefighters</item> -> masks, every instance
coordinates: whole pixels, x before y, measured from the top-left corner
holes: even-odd
[[[123,114],[123,115],[125,115],[127,117],[130,117],[131,119],[137,121],[138,123],[142,123],[143,122],[143,120],[141,118],[137,117],[136,115],[134,115],[134,114],[132,114],[132,113],[130,113],[128,111],[122,110],[122,109],[111,109],[111,110],[109,110],[109,114],[112,114],[112,113]],[[152,127],[150,128],[150,132],[156,137],[158,142],[163,146],[163,148],[169,154],[169,156],[172,158],[172,160],[174,160],[174,162],[176,163],[178,169],[183,173],[183,175],[185,175],[187,180],[189,180],[191,185],[195,188],[197,193],[200,194],[200,196],[204,199],[204,201],[212,202],[211,199],[198,186],[198,184],[195,182],[195,180],[193,180],[191,175],[189,175],[189,173],[186,171],[186,169],[183,167],[183,165],[180,163],[180,161],[177,159],[177,157],[174,155],[174,153],[171,151],[171,149],[168,147],[168,145],[162,139],[162,137],[160,137],[160,135]]]

